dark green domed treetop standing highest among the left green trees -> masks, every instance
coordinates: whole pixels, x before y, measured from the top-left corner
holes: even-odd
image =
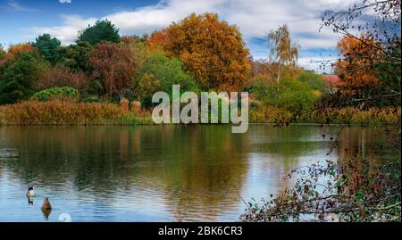
[[[120,42],[119,29],[116,29],[111,21],[96,21],[95,25],[80,31],[78,41],[86,41],[91,45],[101,41],[118,43]]]

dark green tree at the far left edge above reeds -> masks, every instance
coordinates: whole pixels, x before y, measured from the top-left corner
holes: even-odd
[[[0,77],[0,103],[17,103],[34,94],[40,73],[46,62],[38,52],[24,52],[7,64]]]

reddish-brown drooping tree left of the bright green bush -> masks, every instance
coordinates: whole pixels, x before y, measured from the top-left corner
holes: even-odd
[[[101,79],[107,94],[121,98],[134,84],[136,62],[126,44],[100,43],[88,54],[93,78]]]

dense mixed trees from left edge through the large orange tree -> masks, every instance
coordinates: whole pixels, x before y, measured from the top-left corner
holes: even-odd
[[[81,30],[70,46],[44,34],[33,43],[2,49],[0,103],[29,100],[51,87],[74,87],[84,101],[125,97],[149,105],[154,91],[169,91],[172,84],[196,92],[246,86],[248,50],[235,26],[215,14],[192,14],[162,32],[165,41],[155,39],[160,32],[121,37],[105,20]]]

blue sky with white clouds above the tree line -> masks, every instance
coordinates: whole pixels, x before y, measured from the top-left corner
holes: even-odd
[[[350,4],[350,0],[0,0],[0,44],[34,41],[49,33],[69,45],[80,29],[103,19],[112,21],[121,35],[150,34],[192,12],[215,12],[239,27],[255,59],[268,56],[268,33],[288,24],[300,46],[299,65],[319,70],[314,61],[336,55],[341,37],[331,29],[319,30],[322,14]]]

